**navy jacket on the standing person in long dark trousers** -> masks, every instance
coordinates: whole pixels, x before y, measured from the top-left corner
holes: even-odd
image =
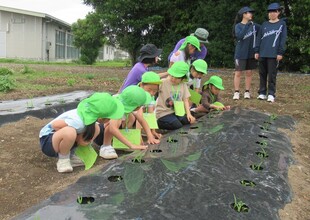
[[[276,23],[265,21],[258,32],[255,53],[259,53],[259,57],[267,58],[276,58],[277,55],[283,55],[286,37],[287,28],[283,19]]]

